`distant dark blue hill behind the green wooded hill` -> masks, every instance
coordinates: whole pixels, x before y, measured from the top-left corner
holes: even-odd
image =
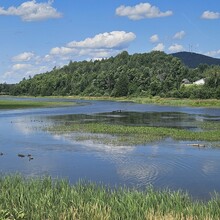
[[[172,55],[174,57],[181,59],[182,62],[190,68],[196,68],[200,64],[220,65],[220,59],[205,56],[198,53],[178,52],[178,53],[173,53]]]

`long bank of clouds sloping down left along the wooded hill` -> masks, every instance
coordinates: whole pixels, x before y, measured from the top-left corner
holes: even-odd
[[[46,55],[23,52],[11,58],[12,66],[0,77],[0,82],[16,83],[29,75],[50,71],[54,66],[64,66],[70,60],[108,58],[126,49],[135,38],[132,32],[112,31],[51,48]]]

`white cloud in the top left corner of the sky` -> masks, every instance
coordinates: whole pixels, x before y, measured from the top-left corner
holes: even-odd
[[[4,9],[0,7],[0,15],[20,16],[23,21],[39,21],[49,18],[60,18],[61,13],[52,7],[53,1],[37,3],[35,0],[26,1],[17,8],[14,6]]]

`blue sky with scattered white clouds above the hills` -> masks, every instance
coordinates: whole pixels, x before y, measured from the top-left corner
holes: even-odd
[[[0,83],[154,50],[220,58],[219,0],[0,0]]]

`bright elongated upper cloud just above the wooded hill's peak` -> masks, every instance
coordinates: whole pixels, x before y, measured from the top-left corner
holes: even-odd
[[[136,38],[132,32],[112,31],[97,34],[93,38],[86,38],[83,41],[72,41],[67,44],[71,48],[125,48]]]

